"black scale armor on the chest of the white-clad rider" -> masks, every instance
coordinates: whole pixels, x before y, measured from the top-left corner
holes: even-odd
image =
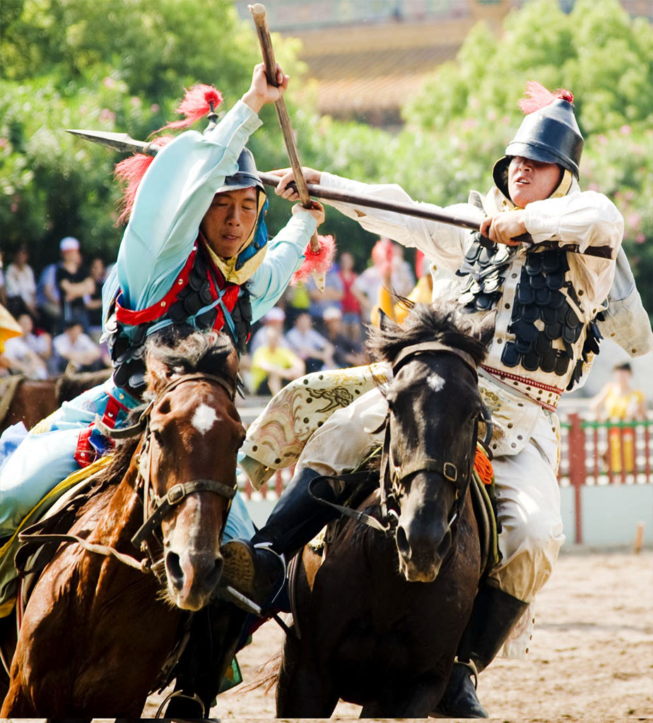
[[[480,234],[477,234],[457,272],[467,277],[458,301],[463,311],[468,313],[497,307],[505,277],[518,250],[516,246],[505,244],[485,247],[479,238]],[[576,310],[581,309],[581,303],[568,272],[569,264],[564,251],[534,247],[526,253],[508,326],[515,340],[505,343],[501,361],[506,367],[522,367],[528,372],[542,369],[543,372],[564,377],[568,374],[570,363],[573,363],[573,345],[585,333],[581,356],[574,364],[567,386],[570,390],[581,379],[589,353],[597,354],[599,351],[602,335],[596,322],[602,320],[602,314],[584,324]],[[556,348],[555,341],[558,341],[556,346],[560,346],[561,341],[562,348]]]

